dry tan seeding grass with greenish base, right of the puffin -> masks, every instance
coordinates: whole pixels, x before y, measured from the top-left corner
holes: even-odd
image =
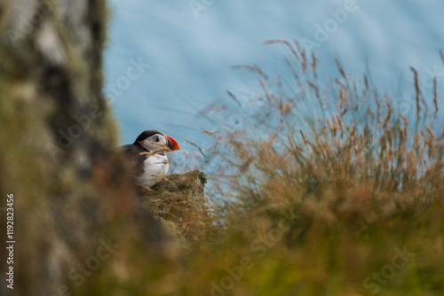
[[[244,118],[242,129],[205,131],[215,141],[207,154],[217,159],[209,196],[219,204],[223,243],[208,254],[211,264],[194,273],[200,278],[194,291],[210,293],[211,281],[231,277],[226,270],[248,257],[253,267],[224,292],[340,295],[377,287],[381,295],[440,294],[444,137],[432,128],[436,80],[429,118],[420,112],[426,103],[411,69],[416,119],[410,122],[367,75],[361,83],[347,76],[338,58],[341,77],[324,94],[313,80],[313,53],[307,66],[300,44],[270,43],[284,44],[294,56],[285,62],[297,90],[282,96],[281,83],[258,66],[243,66],[259,74],[265,105]],[[410,261],[385,284],[372,279],[403,248]]]

